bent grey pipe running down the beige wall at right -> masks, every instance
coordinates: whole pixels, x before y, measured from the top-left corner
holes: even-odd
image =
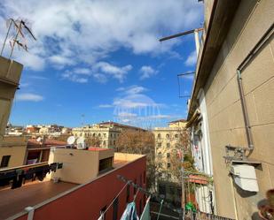
[[[248,149],[250,153],[252,153],[252,151],[254,150],[254,141],[252,138],[251,127],[250,127],[249,117],[247,113],[247,102],[246,102],[246,97],[244,95],[241,72],[246,68],[247,64],[250,63],[250,61],[254,58],[257,52],[260,49],[262,49],[262,46],[264,45],[264,43],[270,40],[270,37],[273,35],[273,27],[274,27],[274,23],[270,26],[270,28],[266,31],[266,33],[262,35],[262,38],[260,39],[260,41],[255,44],[254,48],[251,49],[247,57],[243,60],[241,64],[239,64],[239,67],[237,68],[239,97],[242,105],[242,111],[243,111],[244,122],[245,122],[246,133],[247,133],[247,143],[248,143]]]

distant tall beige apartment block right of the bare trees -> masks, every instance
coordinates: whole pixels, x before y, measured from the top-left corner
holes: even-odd
[[[168,127],[155,127],[155,163],[159,177],[156,179],[160,194],[165,195],[168,201],[180,203],[181,179],[180,163],[182,160],[183,133],[185,120],[176,120],[168,123]]]

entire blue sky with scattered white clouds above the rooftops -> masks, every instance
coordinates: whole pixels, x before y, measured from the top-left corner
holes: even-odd
[[[158,40],[202,25],[197,0],[2,0],[1,44],[9,18],[26,20],[37,38],[12,56],[24,64],[12,124],[153,126],[186,116],[178,95],[192,79],[178,87],[176,75],[195,69],[194,37]]]

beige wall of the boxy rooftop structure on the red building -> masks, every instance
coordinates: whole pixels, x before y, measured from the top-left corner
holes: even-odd
[[[83,184],[98,176],[99,159],[114,156],[114,150],[91,151],[51,148],[49,163],[63,163],[63,168],[51,172],[48,178],[60,178],[70,183]]]

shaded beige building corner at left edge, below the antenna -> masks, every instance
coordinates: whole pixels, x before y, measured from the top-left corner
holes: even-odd
[[[12,109],[12,101],[19,86],[23,65],[0,57],[0,142]]]

